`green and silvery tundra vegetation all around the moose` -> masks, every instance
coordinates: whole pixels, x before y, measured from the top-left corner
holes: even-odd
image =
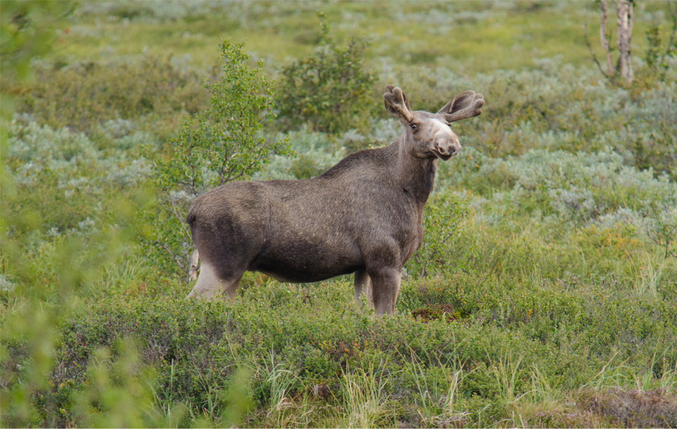
[[[592,2],[3,2],[1,425],[676,427],[675,11],[635,2],[628,83]],[[228,170],[232,76],[270,98]],[[395,314],[351,278],[185,299],[186,196],[393,142],[386,83],[487,102]]]

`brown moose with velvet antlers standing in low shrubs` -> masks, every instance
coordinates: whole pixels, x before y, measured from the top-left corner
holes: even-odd
[[[377,315],[395,311],[402,266],[423,242],[438,160],[461,150],[449,123],[478,116],[485,101],[467,90],[435,114],[412,111],[392,85],[383,100],[404,126],[388,146],[311,179],[230,182],[193,201],[193,279],[200,268],[188,297],[234,297],[245,271],[296,283],[354,273],[358,304],[365,293]]]

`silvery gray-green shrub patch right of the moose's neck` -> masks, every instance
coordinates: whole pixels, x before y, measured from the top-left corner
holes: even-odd
[[[468,208],[489,225],[526,212],[558,230],[594,224],[633,226],[665,245],[677,231],[677,183],[640,171],[613,151],[596,154],[530,149],[521,157],[491,158],[465,147],[440,165],[437,189],[472,189]],[[668,232],[666,232],[668,231]]]

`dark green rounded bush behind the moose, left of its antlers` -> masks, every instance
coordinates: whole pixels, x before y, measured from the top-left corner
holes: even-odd
[[[309,57],[282,69],[277,108],[286,128],[303,124],[322,132],[363,128],[371,116],[374,76],[364,69],[368,43],[352,39],[340,48],[320,14],[320,46]]]

